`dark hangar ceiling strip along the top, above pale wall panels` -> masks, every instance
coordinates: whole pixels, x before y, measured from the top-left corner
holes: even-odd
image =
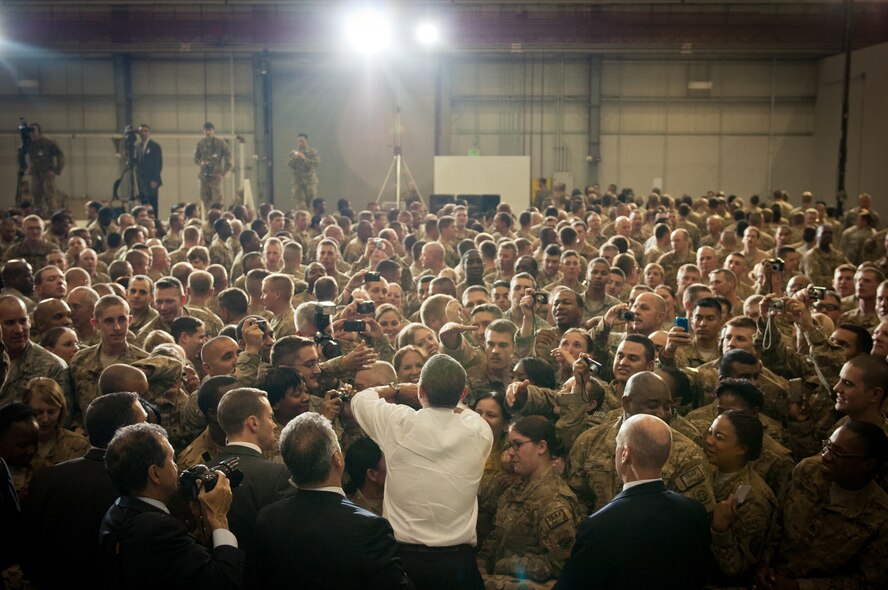
[[[811,59],[888,41],[888,1],[389,2],[398,22],[444,23],[452,54]],[[80,53],[339,50],[345,3],[283,0],[5,0],[6,38]],[[16,45],[7,46],[15,51]]]

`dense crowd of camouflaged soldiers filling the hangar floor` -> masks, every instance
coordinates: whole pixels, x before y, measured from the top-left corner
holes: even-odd
[[[219,457],[233,387],[267,393],[278,434],[304,412],[331,420],[350,497],[382,514],[385,458],[349,395],[418,407],[423,363],[446,354],[494,432],[477,525],[490,587],[556,582],[580,521],[621,490],[635,414],[669,424],[666,486],[710,513],[713,587],[888,583],[888,230],[869,195],[837,216],[810,193],[556,184],[523,211],[342,199],[331,214],[310,176],[310,208],[289,212],[223,210],[212,183],[206,217],[8,212],[0,406],[35,426],[0,420],[0,456],[26,514],[32,475],[89,449],[96,398],[136,392],[181,470]]]

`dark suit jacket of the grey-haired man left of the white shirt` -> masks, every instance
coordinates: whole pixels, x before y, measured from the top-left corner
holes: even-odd
[[[389,522],[336,492],[300,490],[267,506],[254,533],[258,588],[413,588]]]

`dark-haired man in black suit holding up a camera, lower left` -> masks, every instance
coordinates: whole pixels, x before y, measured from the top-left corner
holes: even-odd
[[[99,532],[102,588],[225,590],[243,586],[244,552],[228,530],[231,486],[216,470],[211,491],[201,489],[198,530],[212,533],[202,545],[167,508],[178,491],[178,470],[166,430],[133,424],[117,431],[105,468],[120,497]],[[196,510],[195,510],[196,511]]]

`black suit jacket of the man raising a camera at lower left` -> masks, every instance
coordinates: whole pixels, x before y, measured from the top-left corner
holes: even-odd
[[[208,549],[185,525],[133,496],[117,499],[99,534],[103,588],[225,590],[241,588],[244,552],[230,545]],[[99,574],[99,572],[101,572]]]

